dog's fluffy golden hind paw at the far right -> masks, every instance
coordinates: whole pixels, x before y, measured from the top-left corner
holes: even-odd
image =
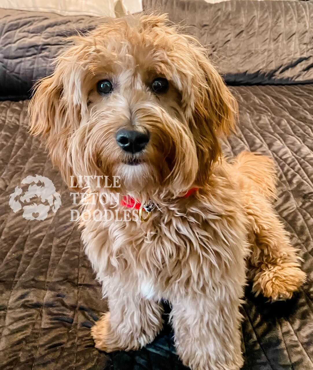
[[[271,300],[290,299],[306,280],[306,274],[292,263],[267,266],[254,276],[253,292]]]

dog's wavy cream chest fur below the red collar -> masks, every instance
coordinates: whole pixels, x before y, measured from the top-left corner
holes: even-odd
[[[223,194],[183,211],[157,211],[147,223],[85,225],[86,253],[104,294],[121,289],[171,300],[177,293],[218,294],[224,279],[244,283],[246,217],[236,197]]]

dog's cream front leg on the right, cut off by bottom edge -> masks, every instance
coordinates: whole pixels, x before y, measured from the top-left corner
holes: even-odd
[[[239,299],[184,298],[171,313],[176,351],[192,370],[239,370],[243,365]]]

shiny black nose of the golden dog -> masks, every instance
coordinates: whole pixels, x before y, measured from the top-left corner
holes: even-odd
[[[116,133],[117,144],[126,152],[138,153],[149,142],[149,134],[121,128]]]

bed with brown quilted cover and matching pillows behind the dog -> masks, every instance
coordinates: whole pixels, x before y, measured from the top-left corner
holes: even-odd
[[[145,0],[208,46],[240,107],[224,154],[271,156],[275,207],[299,248],[307,283],[288,302],[269,303],[246,287],[244,370],[313,369],[313,19],[312,1]],[[167,323],[140,351],[106,354],[90,327],[106,312],[101,287],[70,221],[73,198],[40,139],[27,132],[34,81],[51,73],[62,38],[105,21],[0,9],[0,367],[3,370],[178,370]],[[9,206],[28,175],[53,181],[62,205],[43,221]],[[260,174],[261,175],[261,174]]]

